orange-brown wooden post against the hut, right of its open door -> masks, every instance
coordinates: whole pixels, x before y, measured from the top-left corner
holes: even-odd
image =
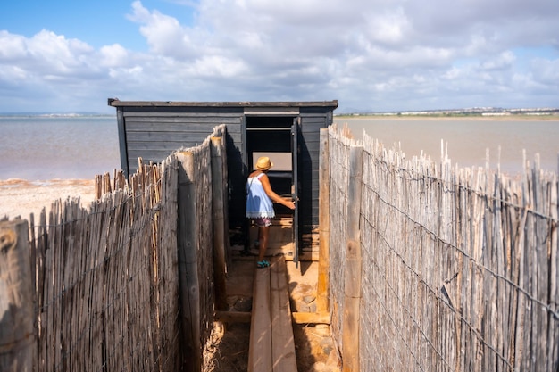
[[[316,293],[317,312],[330,312],[330,164],[328,128],[321,129],[319,161],[319,261]]]

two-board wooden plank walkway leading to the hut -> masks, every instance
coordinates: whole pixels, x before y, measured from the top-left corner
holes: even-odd
[[[254,270],[249,372],[297,370],[287,271],[283,256],[273,257],[270,268]]]

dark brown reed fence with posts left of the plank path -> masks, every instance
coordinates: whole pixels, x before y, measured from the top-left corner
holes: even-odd
[[[225,136],[220,126],[161,164],[140,160],[128,181],[97,177],[88,209],[55,201],[29,228],[0,222],[0,310],[29,314],[2,320],[2,370],[208,370],[213,283],[226,268],[213,239],[228,228],[214,219],[226,215]]]

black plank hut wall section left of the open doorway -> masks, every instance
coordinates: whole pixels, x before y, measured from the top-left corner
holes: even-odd
[[[242,157],[244,114],[242,108],[123,107],[118,115],[121,167],[127,174],[138,169],[138,158],[146,163],[161,162],[180,148],[204,142],[217,125],[227,126],[229,167],[229,221],[237,226],[244,219],[243,198],[246,167]]]

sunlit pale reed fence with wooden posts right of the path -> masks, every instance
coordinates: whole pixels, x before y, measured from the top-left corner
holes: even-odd
[[[328,146],[344,370],[558,370],[555,173],[408,159],[336,128]]]

